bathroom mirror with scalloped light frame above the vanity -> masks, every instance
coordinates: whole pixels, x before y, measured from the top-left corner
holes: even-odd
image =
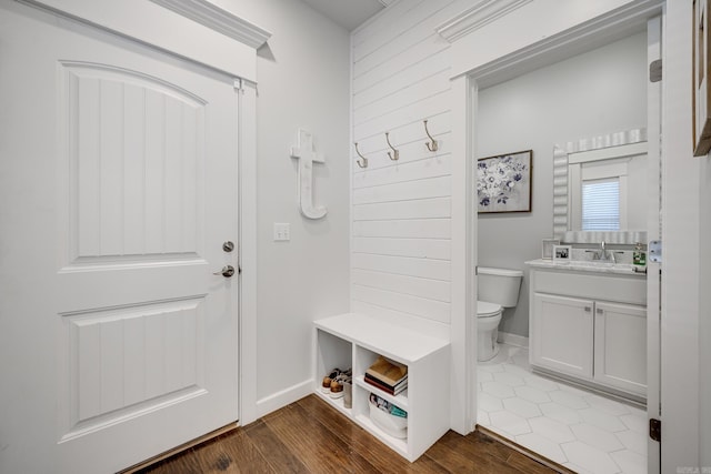
[[[553,147],[553,235],[568,243],[647,241],[647,130]]]

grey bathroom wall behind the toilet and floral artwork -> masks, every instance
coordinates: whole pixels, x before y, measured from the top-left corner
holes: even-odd
[[[479,265],[528,270],[552,236],[553,145],[647,124],[647,34],[479,91],[477,158],[533,150],[530,213],[479,215]],[[645,216],[645,214],[643,215]],[[528,272],[500,329],[528,336]]]

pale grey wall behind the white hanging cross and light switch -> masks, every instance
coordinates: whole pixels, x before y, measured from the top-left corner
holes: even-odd
[[[270,31],[257,78],[258,414],[312,390],[311,322],[349,307],[349,32],[294,0],[220,0]],[[326,163],[313,165],[321,220],[297,208],[297,129]],[[273,242],[274,222],[291,241]]]

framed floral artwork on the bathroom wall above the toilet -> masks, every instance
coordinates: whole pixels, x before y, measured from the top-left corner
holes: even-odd
[[[531,212],[532,150],[480,158],[477,164],[479,213]]]

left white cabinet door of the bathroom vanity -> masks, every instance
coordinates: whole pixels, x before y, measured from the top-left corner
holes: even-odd
[[[592,379],[593,302],[534,293],[531,363]]]

